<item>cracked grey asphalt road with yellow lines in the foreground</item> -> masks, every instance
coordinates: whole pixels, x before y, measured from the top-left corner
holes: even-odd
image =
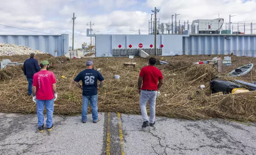
[[[256,123],[157,117],[142,129],[139,115],[99,116],[54,115],[54,130],[39,133],[36,115],[0,113],[0,155],[256,155]]]

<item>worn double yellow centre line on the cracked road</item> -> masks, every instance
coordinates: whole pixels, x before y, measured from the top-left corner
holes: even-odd
[[[108,113],[108,123],[107,123],[107,149],[106,149],[106,154],[110,155],[110,144],[111,144],[111,138],[110,138],[110,115],[111,113]],[[125,155],[124,153],[124,138],[123,138],[123,131],[122,131],[122,121],[121,121],[121,114],[117,113],[117,118],[118,118],[118,127],[119,127],[119,138],[120,138],[120,150],[121,150],[121,155]]]

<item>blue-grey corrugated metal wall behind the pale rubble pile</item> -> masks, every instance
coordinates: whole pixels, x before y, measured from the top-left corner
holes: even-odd
[[[40,50],[55,56],[68,53],[68,34],[36,36],[36,35],[0,35],[1,43],[11,43],[30,47],[33,50]]]

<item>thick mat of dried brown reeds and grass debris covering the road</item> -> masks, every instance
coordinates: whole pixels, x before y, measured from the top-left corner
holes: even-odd
[[[210,93],[210,80],[216,76],[225,79],[228,72],[243,64],[256,62],[256,58],[231,56],[232,65],[224,66],[224,72],[221,74],[218,74],[216,68],[210,64],[193,64],[198,60],[210,60],[213,57],[215,56],[164,57],[164,60],[171,62],[172,66],[156,65],[164,76],[164,85],[159,90],[161,96],[157,98],[156,103],[158,116],[184,119],[221,117],[236,121],[256,121],[255,96],[207,95]],[[52,59],[53,62],[59,58],[48,59]],[[147,59],[134,57],[132,61],[137,62],[136,67],[124,67],[123,62],[130,61],[127,57],[90,59],[94,61],[95,69],[101,68],[99,72],[106,79],[104,87],[99,90],[99,111],[140,114],[137,82],[141,68],[147,65]],[[60,59],[58,61],[61,62]],[[58,99],[54,102],[54,113],[67,115],[81,113],[81,90],[74,85],[73,76],[85,69],[86,61],[87,59],[63,60],[50,68],[57,79]],[[36,113],[36,104],[31,96],[27,96],[27,81],[23,78],[21,66],[14,68],[17,71],[6,68],[6,70],[10,69],[5,72],[8,72],[8,77],[12,78],[0,83],[0,112]],[[19,70],[21,72],[18,72]],[[15,75],[10,72],[15,72]],[[243,77],[243,80],[256,81],[254,73],[255,69],[252,70],[252,74]],[[115,80],[114,75],[120,75],[120,79]],[[200,89],[200,85],[205,85],[206,88]]]

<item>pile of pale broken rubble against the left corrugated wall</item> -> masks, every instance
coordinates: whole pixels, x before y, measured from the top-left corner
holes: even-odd
[[[0,43],[0,55],[29,55],[30,53],[40,54],[39,50],[33,51],[29,47],[9,43]]]

